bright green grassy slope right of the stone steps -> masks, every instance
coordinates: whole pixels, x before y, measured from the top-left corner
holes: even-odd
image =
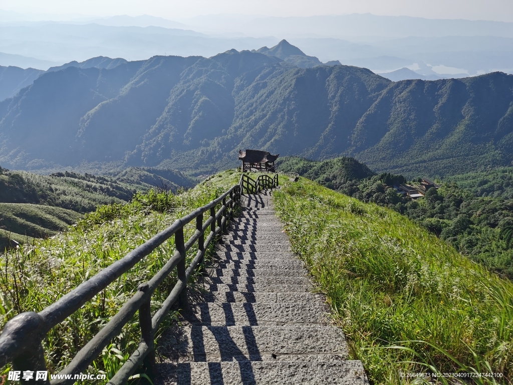
[[[304,178],[285,183],[274,203],[373,383],[429,371],[500,373],[498,383],[511,383],[510,281],[395,211]]]

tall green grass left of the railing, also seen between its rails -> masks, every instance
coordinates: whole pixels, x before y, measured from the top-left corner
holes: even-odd
[[[240,174],[227,171],[209,178],[181,195],[161,192],[138,194],[127,205],[100,206],[86,214],[67,232],[31,245],[11,249],[0,256],[0,328],[16,314],[39,312],[69,293],[102,268],[122,258],[136,246],[171,225],[177,218],[219,197],[239,181]],[[206,219],[206,218],[205,218]],[[186,239],[195,222],[185,228]],[[188,258],[196,253],[191,249]],[[171,239],[137,263],[80,311],[58,324],[43,342],[47,363],[58,372],[120,307],[137,285],[149,280],[174,253]],[[160,307],[176,277],[171,275],[152,296],[152,308]],[[167,324],[174,318],[171,313]],[[165,328],[166,322],[162,328]],[[93,367],[112,376],[139,343],[137,317],[129,322]],[[157,333],[158,335],[159,333]],[[4,368],[4,372],[9,368]],[[92,370],[92,368],[91,368]]]

